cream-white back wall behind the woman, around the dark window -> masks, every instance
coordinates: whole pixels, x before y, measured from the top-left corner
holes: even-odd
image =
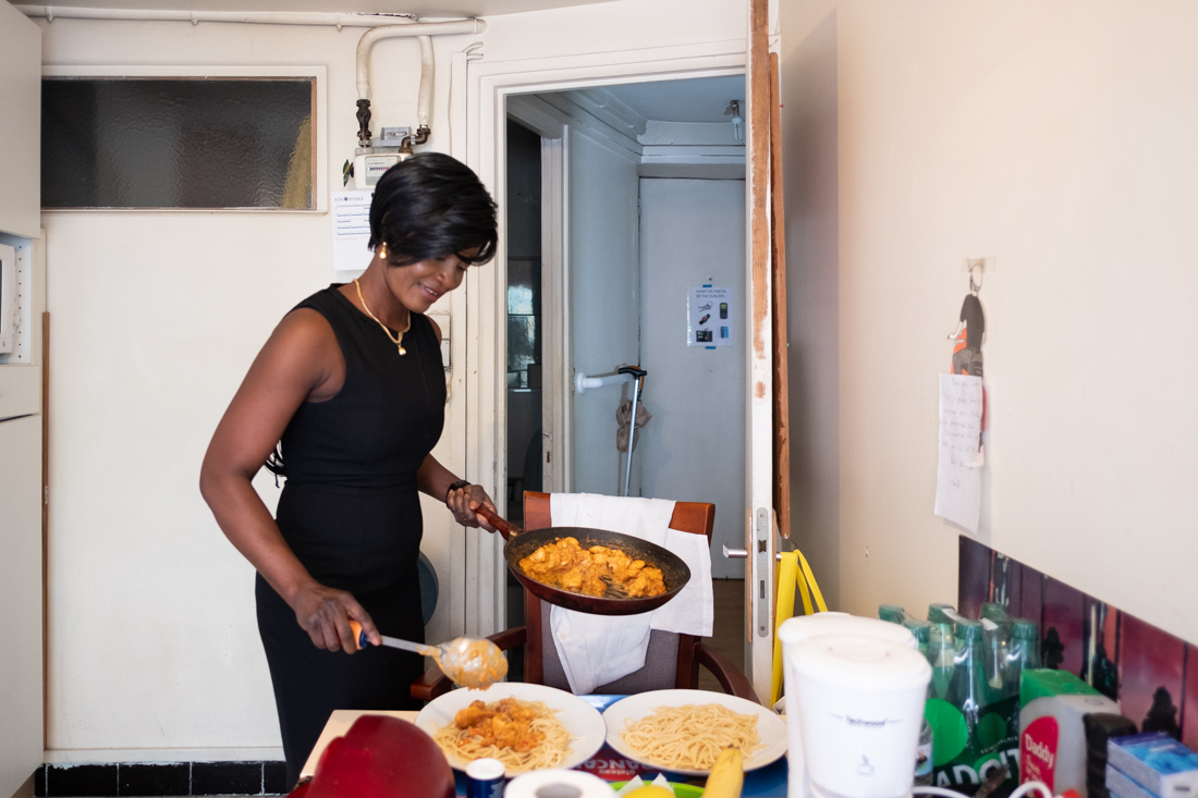
[[[480,37],[438,37],[430,146],[449,149],[449,56],[472,41],[485,42],[490,60],[667,47],[739,38],[743,13],[733,0],[621,0],[495,18]],[[38,24],[47,64],[326,65],[328,177],[340,185],[357,129],[361,30]],[[375,129],[415,120],[417,65],[415,42],[376,46]],[[252,572],[212,521],[196,478],[208,436],[273,325],[333,279],[329,218],[55,212],[43,222],[55,320],[48,757],[278,756]],[[591,252],[610,255],[609,242]],[[452,307],[461,364],[460,296]],[[461,397],[455,389],[435,452],[450,468],[464,460]],[[271,480],[259,485],[273,506]],[[424,549],[438,570],[450,534],[459,533],[448,514],[430,503]],[[429,634],[448,623],[438,610]]]

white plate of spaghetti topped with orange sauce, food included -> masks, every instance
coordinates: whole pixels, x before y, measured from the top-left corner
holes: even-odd
[[[509,779],[581,764],[603,748],[606,736],[603,717],[586,701],[516,682],[446,693],[420,709],[416,725],[441,746],[454,769],[496,758]]]

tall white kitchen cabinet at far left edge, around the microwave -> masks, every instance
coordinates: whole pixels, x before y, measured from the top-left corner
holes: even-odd
[[[31,256],[41,228],[42,35],[0,2],[0,243]],[[29,261],[26,261],[28,265]],[[29,291],[32,271],[23,276]],[[40,284],[35,291],[40,300]],[[28,295],[26,300],[28,301]],[[41,308],[22,325],[41,327]],[[41,352],[0,357],[0,796],[42,763]]]

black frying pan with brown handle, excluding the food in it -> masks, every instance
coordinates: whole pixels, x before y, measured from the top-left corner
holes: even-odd
[[[609,532],[607,530],[591,530],[583,526],[550,526],[544,530],[525,532],[519,526],[500,518],[486,507],[479,507],[477,512],[490,521],[491,526],[497,528],[503,539],[507,540],[503,545],[503,558],[508,561],[508,568],[520,580],[520,584],[533,596],[567,610],[587,612],[589,615],[637,615],[640,612],[648,612],[672,599],[690,581],[690,568],[686,567],[682,557],[668,549],[662,549],[655,543],[642,540],[631,534]],[[633,560],[643,560],[653,568],[661,569],[666,592],[661,596],[628,598],[613,594],[609,590],[606,596],[583,596],[582,593],[571,593],[561,587],[539,582],[520,569],[521,560],[543,545],[556,542],[558,538],[575,538],[583,549],[589,549],[591,546],[619,549]]]

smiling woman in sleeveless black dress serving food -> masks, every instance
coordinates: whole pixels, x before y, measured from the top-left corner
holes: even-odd
[[[458,161],[423,153],[387,171],[365,273],[284,316],[208,445],[200,491],[258,569],[289,785],[333,709],[415,708],[422,658],[377,643],[424,640],[417,491],[491,530],[474,512],[494,508],[483,489],[430,454],[446,387],[441,332],[423,314],[496,243],[495,204]],[[264,464],[286,477],[274,519],[250,485]],[[376,646],[349,657],[351,619]]]

